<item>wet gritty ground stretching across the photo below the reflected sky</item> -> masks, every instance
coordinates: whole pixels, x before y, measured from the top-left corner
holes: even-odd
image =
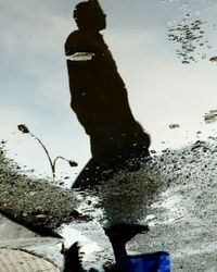
[[[150,226],[148,234],[129,244],[129,252],[167,250],[173,271],[217,269],[215,137],[163,150],[139,171],[122,172],[94,190],[82,193],[24,178],[13,169],[1,160],[1,211],[34,226],[41,220],[39,225],[63,235],[66,242],[86,237],[86,267],[113,261],[103,227],[124,221]]]

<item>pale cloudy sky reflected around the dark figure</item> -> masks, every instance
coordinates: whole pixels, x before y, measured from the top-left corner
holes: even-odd
[[[90,157],[89,139],[69,108],[64,57],[65,39],[76,29],[72,13],[78,2],[0,0],[1,138],[8,139],[9,156],[50,174],[37,143],[16,129],[25,123],[52,157],[79,163],[73,170],[60,165],[59,174],[73,178]],[[104,39],[127,85],[132,112],[152,136],[151,148],[183,145],[197,131],[214,134],[216,124],[205,124],[203,116],[217,109],[217,62],[209,61],[217,55],[217,2],[100,2],[107,15]],[[170,129],[174,123],[180,128]]]

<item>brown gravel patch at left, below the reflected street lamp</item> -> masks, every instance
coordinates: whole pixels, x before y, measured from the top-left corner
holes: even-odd
[[[54,230],[67,218],[79,217],[74,193],[46,180],[30,178],[0,150],[0,211],[16,222],[39,232]]]

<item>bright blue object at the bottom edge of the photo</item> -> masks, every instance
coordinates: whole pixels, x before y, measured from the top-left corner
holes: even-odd
[[[123,256],[119,268],[126,272],[170,272],[170,258],[166,251]]]

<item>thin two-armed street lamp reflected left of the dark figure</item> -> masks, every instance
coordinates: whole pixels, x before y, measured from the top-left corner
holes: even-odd
[[[46,148],[46,146],[43,145],[43,143],[38,138],[36,137],[29,129],[26,125],[24,124],[20,124],[17,125],[17,128],[20,132],[22,132],[23,134],[29,134],[33,138],[35,138],[39,144],[40,146],[43,148],[46,154],[47,154],[47,158],[49,160],[49,163],[50,163],[50,166],[51,166],[51,171],[52,171],[52,175],[53,175],[53,182],[55,181],[55,165],[56,165],[56,161],[58,160],[64,160],[64,161],[67,161],[68,164],[71,165],[71,168],[74,168],[74,166],[77,166],[77,162],[73,161],[73,160],[67,160],[65,159],[64,157],[62,156],[58,156],[54,160],[51,159],[50,154],[49,154],[49,151],[48,149]]]

